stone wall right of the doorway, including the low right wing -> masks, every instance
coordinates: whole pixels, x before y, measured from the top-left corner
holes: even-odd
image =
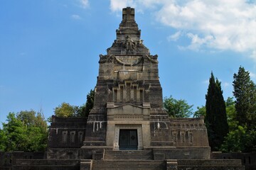
[[[203,118],[168,118],[159,111],[150,120],[152,146],[209,147]]]

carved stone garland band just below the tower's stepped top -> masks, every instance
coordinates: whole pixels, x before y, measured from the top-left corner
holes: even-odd
[[[137,60],[133,63],[123,62],[119,58],[117,58],[114,55],[100,55],[100,62],[99,63],[114,63],[114,64],[120,64],[124,66],[136,66],[137,64],[140,64],[141,62],[151,62],[154,64],[157,64],[157,55],[144,55],[142,57],[138,57]]]

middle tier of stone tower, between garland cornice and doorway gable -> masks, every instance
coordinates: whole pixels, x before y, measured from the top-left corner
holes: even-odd
[[[104,107],[108,102],[115,105],[151,103],[152,108],[162,108],[157,55],[100,56],[95,108]]]

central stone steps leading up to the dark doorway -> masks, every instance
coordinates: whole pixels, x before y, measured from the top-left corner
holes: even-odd
[[[153,154],[149,150],[105,150],[103,160],[93,160],[92,170],[166,170],[165,161],[153,160]]]

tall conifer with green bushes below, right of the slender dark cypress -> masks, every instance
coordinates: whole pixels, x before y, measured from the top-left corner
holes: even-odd
[[[239,67],[234,74],[233,99],[227,100],[228,123],[230,132],[221,146],[223,152],[256,151],[256,86],[250,73]]]

